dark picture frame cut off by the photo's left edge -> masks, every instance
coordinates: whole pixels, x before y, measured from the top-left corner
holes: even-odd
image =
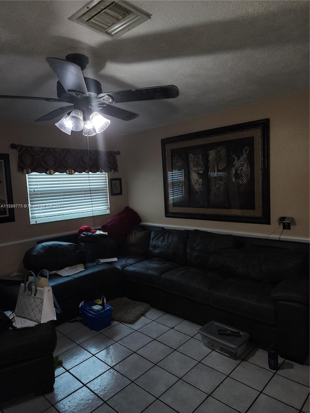
[[[0,224],[14,221],[10,156],[8,153],[0,153]]]

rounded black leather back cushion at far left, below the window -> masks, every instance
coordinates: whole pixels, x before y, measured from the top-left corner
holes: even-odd
[[[77,244],[51,241],[38,244],[24,255],[23,264],[27,270],[38,272],[62,270],[85,260],[83,248]]]

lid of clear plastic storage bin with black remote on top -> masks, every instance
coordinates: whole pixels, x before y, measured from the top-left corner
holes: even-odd
[[[218,328],[239,331],[241,337],[219,335],[217,334]],[[250,337],[250,335],[245,331],[238,330],[235,327],[222,324],[217,321],[209,321],[207,324],[202,326],[198,331],[202,336],[212,338],[214,341],[218,343],[225,344],[233,348],[238,348],[242,346],[242,344],[248,341],[248,338]]]

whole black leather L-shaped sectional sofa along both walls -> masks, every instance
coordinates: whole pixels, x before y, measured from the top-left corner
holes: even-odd
[[[88,260],[118,257],[113,263],[87,263],[85,271],[68,277],[50,276],[62,308],[58,322],[76,317],[82,300],[126,295],[201,325],[210,320],[231,325],[248,332],[250,341],[264,349],[276,344],[290,360],[302,363],[307,357],[308,245],[253,245],[207,231],[140,226],[132,228],[123,248],[107,246],[107,236],[97,237],[104,242],[56,240],[25,254],[24,265],[33,271],[77,264],[85,255]]]

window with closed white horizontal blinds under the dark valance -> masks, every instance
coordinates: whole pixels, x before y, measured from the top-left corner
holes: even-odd
[[[30,223],[109,214],[108,174],[32,172],[27,175]]]

